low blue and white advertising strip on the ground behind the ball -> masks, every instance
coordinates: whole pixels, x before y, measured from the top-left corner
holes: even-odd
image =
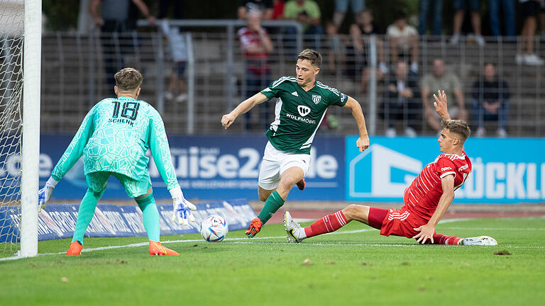
[[[179,225],[171,220],[172,205],[157,205],[161,235],[191,234],[199,232],[202,220],[209,215],[224,217],[229,230],[246,229],[255,218],[255,212],[243,199],[197,203],[193,211],[195,222]],[[38,214],[38,240],[72,238],[79,205],[52,204]],[[14,206],[0,207],[1,242],[18,242],[21,234],[21,215]],[[87,227],[84,237],[135,237],[145,236],[142,211],[137,205],[99,204]]]

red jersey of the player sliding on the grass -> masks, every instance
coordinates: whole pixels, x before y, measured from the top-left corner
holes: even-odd
[[[456,154],[441,154],[434,162],[424,166],[411,185],[405,189],[402,210],[411,215],[429,221],[434,214],[439,198],[443,195],[441,179],[449,174],[454,175],[454,190],[460,188],[471,172],[471,162],[466,152],[462,156]]]

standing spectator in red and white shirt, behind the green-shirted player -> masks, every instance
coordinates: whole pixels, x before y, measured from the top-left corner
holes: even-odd
[[[272,52],[272,42],[265,28],[261,27],[260,11],[249,11],[246,14],[248,25],[238,30],[238,40],[246,62],[246,96],[253,96],[270,84],[269,53]],[[258,120],[261,128],[268,128],[267,118],[270,103],[264,103]],[[251,113],[246,113],[246,130],[252,128]]]

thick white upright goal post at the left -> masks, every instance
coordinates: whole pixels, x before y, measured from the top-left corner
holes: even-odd
[[[38,254],[42,1],[24,0],[21,256]]]

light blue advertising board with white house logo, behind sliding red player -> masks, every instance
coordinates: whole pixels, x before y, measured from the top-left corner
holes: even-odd
[[[373,137],[360,153],[346,139],[346,200],[402,202],[404,188],[440,154],[436,137]],[[545,140],[470,138],[473,171],[453,203],[545,201]]]

